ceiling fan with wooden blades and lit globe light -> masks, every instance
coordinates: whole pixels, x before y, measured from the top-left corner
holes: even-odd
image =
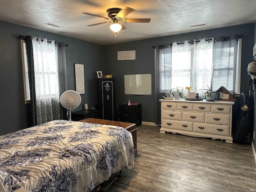
[[[113,22],[113,24],[110,25],[110,29],[115,33],[120,31],[121,29],[125,29],[125,27],[121,25],[121,23],[149,23],[150,22],[150,18],[125,18],[126,15],[128,15],[132,11],[133,9],[130,7],[126,7],[125,9],[110,8],[107,10],[108,18],[104,16],[96,15],[96,14],[86,13],[86,12],[84,12],[83,14],[101,17],[108,20],[106,22],[96,23],[96,24],[87,25],[87,26],[94,26],[94,25]]]

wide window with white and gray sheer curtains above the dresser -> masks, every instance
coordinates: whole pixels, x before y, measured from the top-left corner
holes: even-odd
[[[226,42],[201,39],[194,44],[185,41],[160,49],[159,92],[168,94],[177,86],[191,86],[193,91],[203,94],[202,89],[213,84],[213,90],[224,86],[232,93],[235,90],[239,93],[241,40],[238,43],[236,39]]]

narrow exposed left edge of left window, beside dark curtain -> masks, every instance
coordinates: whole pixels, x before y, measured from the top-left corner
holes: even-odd
[[[28,79],[28,60],[27,60],[25,40],[20,40],[20,45],[21,45],[22,69],[23,69],[24,97],[25,97],[25,104],[26,104],[30,102],[30,87],[29,87],[29,79]]]

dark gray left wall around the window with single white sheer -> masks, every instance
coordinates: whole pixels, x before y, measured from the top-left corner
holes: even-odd
[[[69,90],[75,90],[74,63],[84,64],[85,94],[81,94],[82,102],[76,110],[82,110],[83,103],[97,104],[96,71],[104,71],[103,46],[1,20],[0,26],[0,135],[27,127],[19,35],[68,44],[65,49]]]

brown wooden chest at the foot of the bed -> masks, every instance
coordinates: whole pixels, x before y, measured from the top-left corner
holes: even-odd
[[[127,123],[127,122],[120,122],[120,121],[104,120],[104,119],[94,119],[94,118],[83,119],[83,120],[80,120],[79,122],[104,124],[104,125],[114,125],[114,126],[123,127],[124,129],[128,130],[132,134],[132,140],[133,140],[133,144],[134,144],[134,156],[136,157],[138,155],[136,124]]]

